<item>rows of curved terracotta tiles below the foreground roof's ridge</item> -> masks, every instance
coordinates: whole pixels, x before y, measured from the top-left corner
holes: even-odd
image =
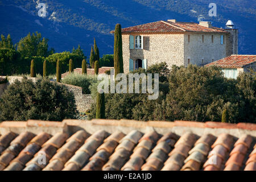
[[[234,126],[238,125],[232,125],[232,128]],[[198,128],[204,130],[203,127]],[[75,127],[72,127],[72,132],[73,129]],[[222,134],[219,134],[218,127],[204,130],[204,134],[192,133],[185,127],[183,131],[189,133],[162,135],[156,132],[161,130],[142,133],[145,130],[129,129],[129,133],[125,130],[126,134],[94,130],[90,135],[89,130],[81,129],[69,134],[52,133],[53,137],[48,133],[13,133],[7,134],[11,136],[9,140],[4,134],[0,141],[7,142],[2,145],[4,151],[0,155],[0,170],[256,170],[254,131],[246,130],[246,135],[237,137],[231,135],[229,129],[220,129]],[[214,134],[216,137],[209,133],[211,130],[218,131]],[[42,163],[43,154],[46,154],[46,163]]]

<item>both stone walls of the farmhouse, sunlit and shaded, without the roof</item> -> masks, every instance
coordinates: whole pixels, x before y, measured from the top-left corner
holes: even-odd
[[[130,49],[130,35],[143,36],[143,49]],[[221,35],[224,42],[221,44]],[[233,36],[236,35],[236,38]],[[188,36],[190,40],[188,42]],[[203,38],[204,36],[204,38]],[[213,42],[212,42],[213,36]],[[204,42],[203,42],[204,39]],[[236,52],[237,31],[231,33],[151,33],[151,34],[122,34],[123,69],[129,72],[129,60],[147,59],[147,67],[165,61],[169,68],[172,65],[190,64],[205,65],[220,60]],[[135,64],[135,63],[134,63]],[[134,65],[135,68],[135,65]]]

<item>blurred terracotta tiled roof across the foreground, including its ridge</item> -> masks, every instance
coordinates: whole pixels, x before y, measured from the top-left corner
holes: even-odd
[[[5,171],[256,171],[254,124],[28,121],[0,133]]]

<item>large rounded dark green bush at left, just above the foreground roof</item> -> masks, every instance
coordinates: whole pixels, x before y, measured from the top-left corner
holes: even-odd
[[[46,79],[35,83],[27,78],[16,80],[0,99],[0,121],[63,121],[75,118],[76,114],[73,93]]]

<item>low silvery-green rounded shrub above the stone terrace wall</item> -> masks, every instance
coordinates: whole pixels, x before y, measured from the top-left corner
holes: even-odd
[[[71,73],[70,75],[64,77],[62,82],[64,84],[80,86],[82,88],[82,93],[90,94],[91,92],[89,86],[97,82],[97,77],[92,75]]]

